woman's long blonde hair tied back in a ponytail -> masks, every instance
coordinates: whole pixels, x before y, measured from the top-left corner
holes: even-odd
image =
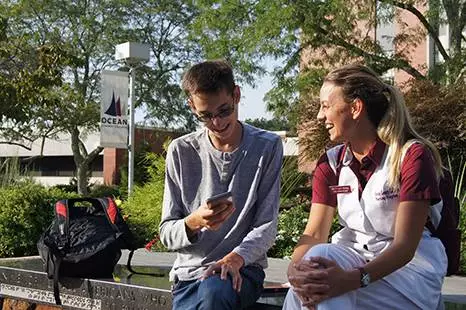
[[[403,95],[398,88],[386,84],[371,69],[352,64],[330,72],[324,82],[342,88],[343,98],[351,103],[356,98],[364,102],[369,120],[377,129],[379,138],[390,146],[388,184],[393,189],[400,186],[400,170],[403,154],[417,140],[426,145],[433,156],[437,177],[442,175],[442,159],[437,148],[414,129]]]

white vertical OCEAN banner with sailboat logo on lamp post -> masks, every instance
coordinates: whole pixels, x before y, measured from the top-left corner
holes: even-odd
[[[102,71],[100,146],[128,148],[128,72]]]

